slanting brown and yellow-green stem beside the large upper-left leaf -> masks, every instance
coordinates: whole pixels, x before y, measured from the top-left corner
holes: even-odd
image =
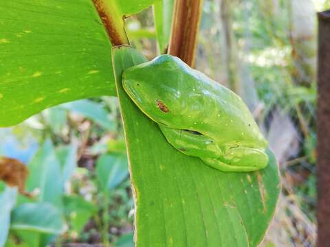
[[[120,13],[118,13],[118,8],[115,6],[115,3],[107,0],[92,1],[107,30],[112,45],[129,45],[129,40],[124,30],[124,19]]]

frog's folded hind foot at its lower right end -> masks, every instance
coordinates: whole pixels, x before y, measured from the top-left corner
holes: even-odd
[[[252,172],[267,166],[268,156],[256,148],[230,148],[221,158],[201,158],[201,160],[223,172]]]

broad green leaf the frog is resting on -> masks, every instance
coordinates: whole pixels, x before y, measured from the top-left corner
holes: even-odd
[[[230,173],[175,150],[122,89],[122,71],[144,61],[130,47],[113,49],[137,246],[258,246],[281,189],[274,155],[259,172]]]

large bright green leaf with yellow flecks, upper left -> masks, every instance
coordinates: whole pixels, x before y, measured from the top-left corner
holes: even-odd
[[[92,1],[2,0],[0,30],[0,126],[115,95],[111,44]]]

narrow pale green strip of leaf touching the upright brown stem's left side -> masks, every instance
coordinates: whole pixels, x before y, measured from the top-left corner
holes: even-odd
[[[162,0],[153,6],[158,48],[165,54],[170,41],[174,0]]]

